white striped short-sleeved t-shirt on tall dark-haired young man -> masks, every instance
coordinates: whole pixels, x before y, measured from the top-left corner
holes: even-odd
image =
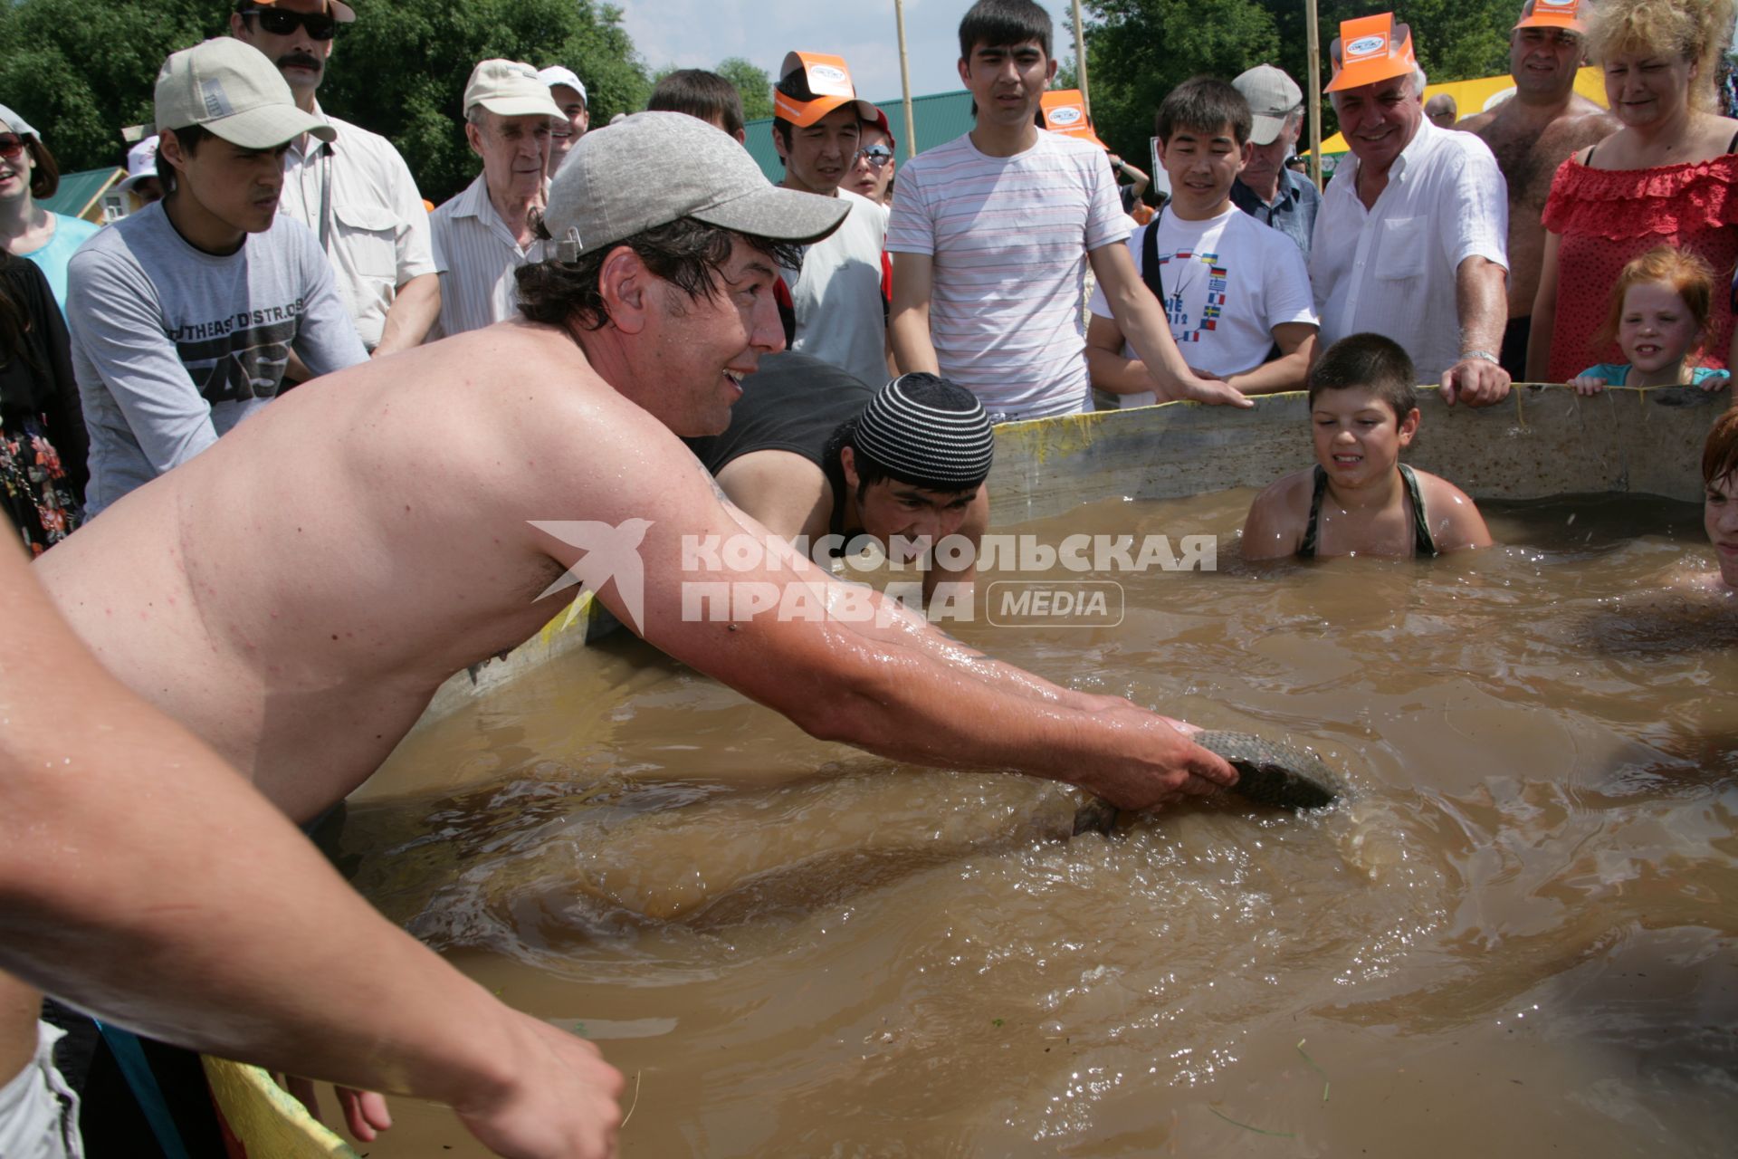
[[[991,414],[1036,419],[1091,408],[1086,254],[1131,229],[1098,146],[1039,132],[1024,153],[985,156],[965,136],[899,170],[886,248],[933,257],[942,374]]]

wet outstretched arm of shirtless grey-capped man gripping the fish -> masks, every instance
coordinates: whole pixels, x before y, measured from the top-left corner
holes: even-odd
[[[620,421],[620,438],[600,443],[568,487],[587,488],[575,493],[607,523],[647,521],[640,573],[626,582],[641,584],[641,634],[678,660],[810,735],[892,759],[1065,780],[1123,808],[1236,784],[1229,765],[1168,718],[1058,688],[834,580],[720,502],[700,464],[650,415]],[[669,455],[664,469],[645,469],[650,454]],[[746,554],[726,547],[732,535]],[[542,532],[534,542],[565,565],[580,556]],[[624,613],[620,579],[598,594]],[[751,603],[765,606],[732,619]]]

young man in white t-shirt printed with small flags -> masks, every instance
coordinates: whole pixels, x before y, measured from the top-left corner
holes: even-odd
[[[1286,235],[1231,200],[1250,162],[1250,103],[1222,80],[1197,76],[1164,97],[1156,129],[1171,200],[1128,250],[1196,374],[1243,394],[1298,391],[1316,353],[1309,269]],[[1091,315],[1091,384],[1123,407],[1158,401],[1104,294],[1093,294]]]

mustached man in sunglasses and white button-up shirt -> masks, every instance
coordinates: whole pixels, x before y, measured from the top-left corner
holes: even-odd
[[[337,134],[290,142],[278,209],[320,238],[362,344],[389,354],[417,346],[434,325],[440,278],[428,210],[405,158],[386,137],[325,113],[315,99],[337,26],[355,19],[339,0],[238,0],[229,35],[264,52],[295,106]]]

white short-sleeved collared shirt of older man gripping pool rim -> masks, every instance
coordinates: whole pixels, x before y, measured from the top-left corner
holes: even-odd
[[[1462,354],[1460,262],[1509,268],[1509,186],[1484,141],[1429,120],[1394,158],[1375,209],[1357,198],[1357,169],[1349,156],[1335,170],[1310,240],[1321,342],[1383,334],[1434,382]]]

